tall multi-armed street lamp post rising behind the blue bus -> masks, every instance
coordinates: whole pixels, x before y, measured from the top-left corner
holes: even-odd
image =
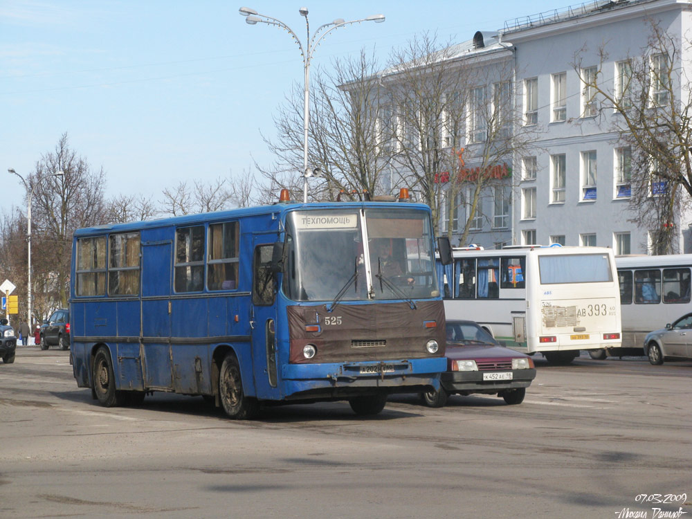
[[[241,15],[246,17],[245,21],[247,24],[250,25],[255,25],[258,22],[262,24],[268,24],[268,25],[273,25],[280,27],[282,29],[287,30],[293,39],[295,39],[295,42],[298,44],[298,48],[300,48],[300,55],[302,55],[303,58],[303,68],[304,68],[304,89],[303,89],[303,170],[302,170],[302,177],[303,177],[303,203],[307,202],[307,177],[312,174],[310,170],[308,170],[307,167],[307,143],[308,143],[308,138],[307,138],[307,133],[308,133],[308,127],[309,127],[309,120],[310,120],[310,90],[309,90],[309,82],[310,82],[310,62],[312,60],[312,55],[315,52],[315,49],[317,48],[318,44],[320,41],[322,41],[322,38],[324,38],[327,34],[329,34],[332,30],[337,29],[339,27],[344,27],[347,25],[352,25],[352,24],[358,24],[361,21],[374,21],[376,24],[380,24],[381,22],[385,21],[384,15],[372,15],[367,18],[361,18],[358,20],[352,20],[352,21],[344,21],[343,18],[337,18],[334,21],[330,21],[328,24],[324,24],[315,31],[313,34],[312,38],[310,37],[310,24],[307,19],[307,8],[302,7],[298,10],[300,12],[300,15],[302,17],[305,17],[305,27],[307,29],[307,38],[305,39],[305,42],[307,44],[307,48],[304,48],[302,43],[300,43],[300,39],[298,38],[297,35],[293,32],[293,30],[284,24],[283,21],[278,20],[276,18],[273,18],[271,16],[267,15],[260,15],[259,12],[255,11],[254,9],[251,9],[249,7],[242,7],[239,9],[239,12]],[[331,27],[329,27],[331,26]],[[325,30],[322,35],[320,35],[320,31],[322,29],[325,29],[329,27],[329,29]],[[319,36],[319,37],[318,37]]]

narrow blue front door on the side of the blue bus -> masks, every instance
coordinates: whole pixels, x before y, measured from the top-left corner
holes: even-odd
[[[266,240],[266,237],[262,239]],[[280,399],[276,347],[276,277],[271,271],[273,244],[255,245],[251,340],[255,389],[259,399]]]

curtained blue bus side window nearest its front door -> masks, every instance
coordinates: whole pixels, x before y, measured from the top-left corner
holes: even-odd
[[[207,288],[235,290],[238,288],[240,233],[237,221],[209,226]]]

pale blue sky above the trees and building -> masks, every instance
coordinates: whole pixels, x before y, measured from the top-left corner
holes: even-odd
[[[304,1],[304,0],[303,0]],[[248,2],[248,3],[240,3]],[[384,62],[421,33],[463,42],[505,21],[570,2],[350,0],[0,0],[0,212],[24,206],[28,176],[62,134],[94,170],[107,197],[161,199],[181,181],[256,174],[271,165],[262,136],[291,85],[303,82],[298,46],[284,30],[248,25],[248,6],[280,19],[305,44],[334,19],[383,14],[332,31],[311,71],[374,51]],[[574,2],[577,3],[577,2]],[[573,4],[574,4],[573,3]],[[298,173],[296,173],[298,174]]]

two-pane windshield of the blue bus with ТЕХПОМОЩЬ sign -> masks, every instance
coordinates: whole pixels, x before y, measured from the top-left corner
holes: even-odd
[[[296,301],[437,297],[429,222],[426,212],[401,208],[293,212],[283,291]]]

